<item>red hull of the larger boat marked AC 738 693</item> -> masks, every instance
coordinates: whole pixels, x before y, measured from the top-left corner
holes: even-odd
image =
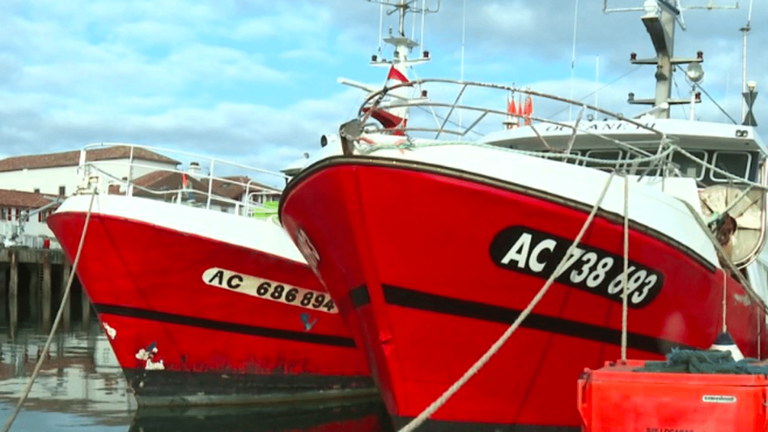
[[[513,184],[383,158],[327,160],[283,196],[284,226],[366,346],[400,423],[436,400],[519,316],[589,211]],[[313,211],[318,206],[323,212]],[[723,271],[635,228],[628,357],[711,346],[722,326]],[[610,282],[621,280],[622,229],[598,213],[581,244],[583,261],[432,416],[434,430],[580,426],[576,380],[585,367],[620,357],[621,285]],[[601,275],[602,261],[611,266]],[[729,332],[745,356],[758,357],[764,316],[726,281]]]

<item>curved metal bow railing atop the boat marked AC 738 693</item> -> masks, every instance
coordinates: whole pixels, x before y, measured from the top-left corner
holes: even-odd
[[[391,96],[394,90],[408,87],[416,90],[414,93],[418,96]],[[572,112],[575,118],[534,114],[534,103],[537,113]],[[409,109],[407,122],[394,128],[372,122],[377,112],[394,108]],[[401,147],[488,144],[530,152],[537,157],[630,171],[640,176],[683,177],[679,163],[673,160],[681,157],[706,164],[679,151],[679,138],[656,128],[658,119],[652,116],[632,118],[582,101],[517,86],[433,78],[398,83],[369,94],[356,120],[357,126],[353,129],[369,137],[388,136],[391,139],[385,140],[386,144]],[[520,143],[524,143],[523,146]],[[361,144],[358,140],[358,151],[370,151],[376,144],[383,143]],[[585,149],[593,154],[584,154]],[[594,155],[600,152],[614,152],[617,156]],[[733,173],[725,176],[729,182],[749,183],[749,179]]]

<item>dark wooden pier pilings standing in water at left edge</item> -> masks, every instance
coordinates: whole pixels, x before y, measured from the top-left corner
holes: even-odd
[[[61,250],[0,248],[0,322],[8,324],[11,336],[19,325],[50,329],[70,272]],[[91,314],[88,296],[75,278],[61,327],[69,330],[75,320],[87,328]]]

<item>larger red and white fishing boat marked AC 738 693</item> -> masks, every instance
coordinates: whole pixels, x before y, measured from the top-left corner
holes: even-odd
[[[652,62],[684,62],[665,45],[674,8],[654,6],[643,17]],[[281,221],[366,347],[396,424],[478,365],[423,430],[579,430],[576,380],[620,357],[623,332],[634,359],[706,349],[724,330],[745,356],[766,356],[768,151],[749,124],[670,119],[661,78],[666,91],[637,118],[581,121],[586,109],[612,114],[577,103],[575,122],[546,120],[524,101],[522,116],[491,133],[506,112],[425,98],[442,115],[428,139],[413,118],[405,138],[368,124],[374,95],[340,129],[343,155],[289,183]],[[449,84],[456,101],[494,100],[493,90],[496,100],[563,101],[485,83],[409,83],[443,93]],[[456,129],[451,115],[462,110],[469,126]],[[482,138],[467,141],[473,131]],[[449,133],[458,138],[435,139]]]

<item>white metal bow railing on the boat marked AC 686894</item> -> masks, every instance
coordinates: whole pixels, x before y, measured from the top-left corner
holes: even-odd
[[[186,165],[188,168],[183,169]],[[78,170],[84,187],[209,210],[265,218],[276,214],[284,174],[198,154],[125,143],[85,146]]]

